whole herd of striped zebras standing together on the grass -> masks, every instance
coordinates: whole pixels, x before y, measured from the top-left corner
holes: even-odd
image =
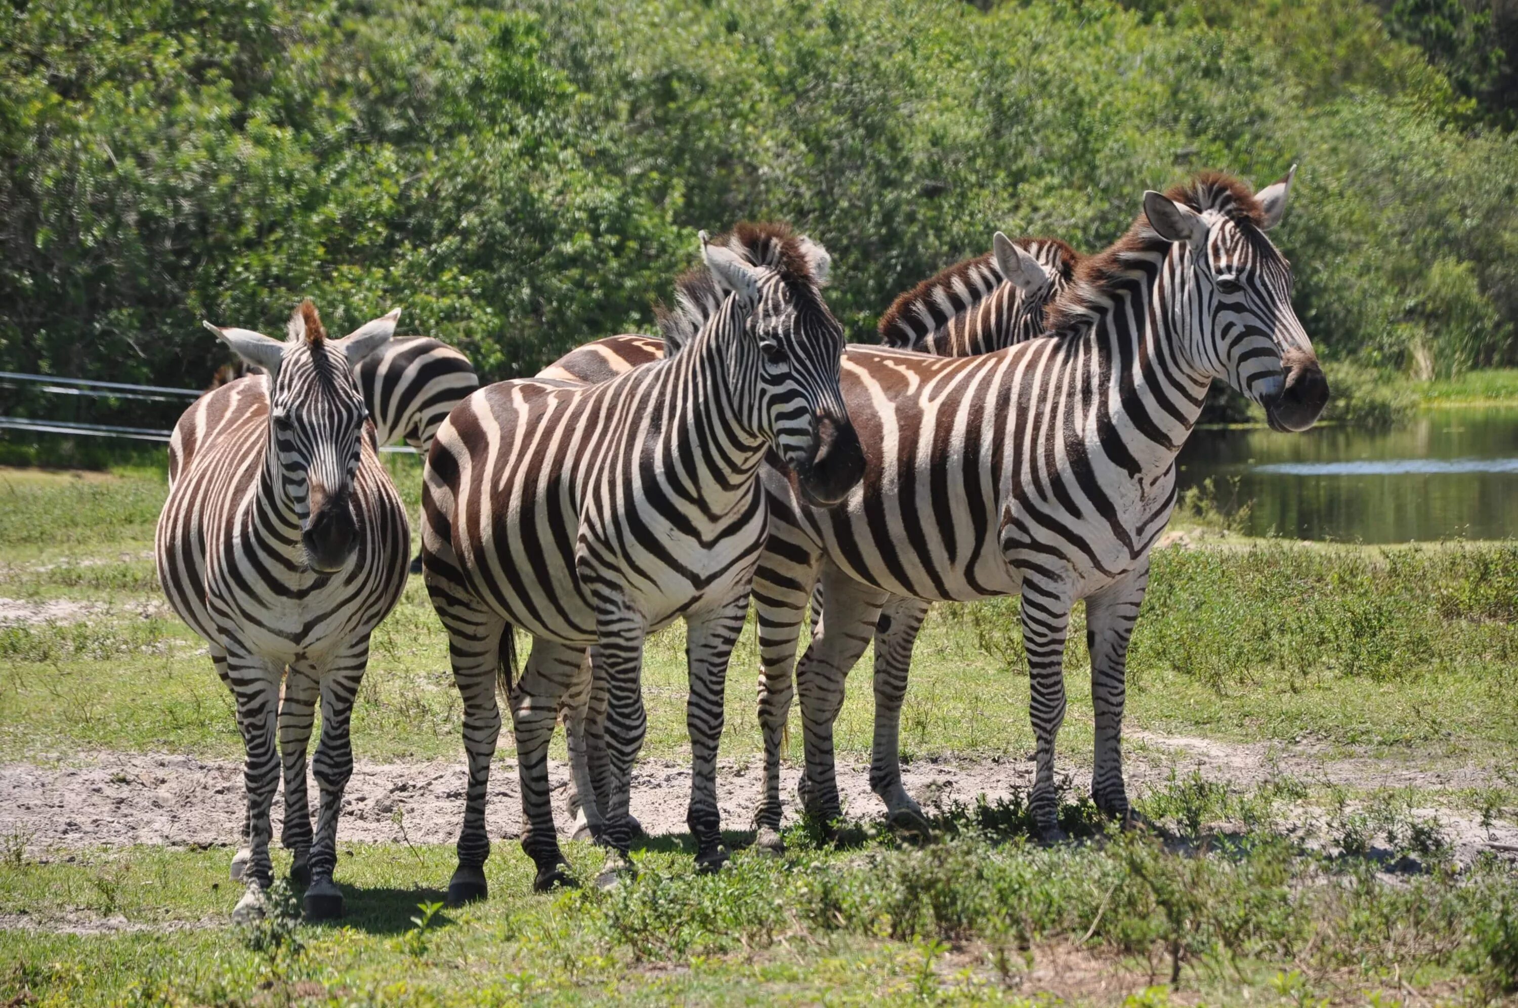
[[[1251,193],[1204,173],[1145,193],[1132,228],[1088,257],[997,232],[991,254],[890,307],[885,346],[846,346],[824,298],[829,254],[782,225],[703,232],[701,266],[660,311],[662,339],[607,337],[536,378],[478,390],[455,351],[392,340],[399,313],[345,339],[326,337],[310,302],[284,342],[211,326],[267,376],[217,389],[176,425],[156,553],[170,603],[206,639],[237,700],[247,817],[234,877],[247,888],[234,918],[263,914],[281,771],[282,841],[291,873],[308,880],[305,911],[343,909],[332,868],[349,713],[410,542],[376,455],[393,436],[427,452],[422,577],[465,703],[469,783],[451,902],[486,896],[498,694],[516,736],[534,887],[569,882],[546,762],[560,721],[584,829],[606,850],[600,880],[631,871],[642,648],[676,619],[688,630],[688,824],[698,868],[720,868],[716,745],[750,606],[762,666],[761,849],[780,846],[780,744],[794,698],[802,805],[838,815],[832,727],[871,641],[870,785],[897,826],[924,826],[897,745],[914,639],[932,601],[991,595],[1022,597],[1038,832],[1060,836],[1055,736],[1081,600],[1091,792],[1126,820],[1128,639],[1175,502],[1175,457],[1208,386],[1227,381],[1280,431],[1309,428],[1328,399],[1290,307],[1290,267],[1264,235],[1290,184],[1287,173]],[[812,641],[795,662],[808,607]],[[516,630],[533,642],[519,674]],[[313,833],[305,750],[317,700]]]

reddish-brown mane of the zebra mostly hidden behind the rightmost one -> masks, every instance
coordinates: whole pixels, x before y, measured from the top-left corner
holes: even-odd
[[[1055,291],[1075,276],[1079,255],[1058,238],[1017,238],[1013,244],[1029,252],[1053,273]],[[897,296],[880,316],[880,343],[914,349],[953,319],[981,304],[1005,282],[996,254],[987,252],[929,276]]]

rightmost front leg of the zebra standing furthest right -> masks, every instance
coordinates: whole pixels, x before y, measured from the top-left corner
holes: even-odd
[[[1128,691],[1128,641],[1149,586],[1149,556],[1120,580],[1085,600],[1085,642],[1091,651],[1091,706],[1096,710],[1096,761],[1091,799],[1104,814],[1128,823],[1123,786],[1123,700]]]

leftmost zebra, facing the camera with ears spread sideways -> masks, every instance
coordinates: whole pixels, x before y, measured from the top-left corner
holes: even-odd
[[[380,465],[352,364],[392,337],[399,314],[337,340],[326,339],[310,301],[290,317],[284,342],[205,323],[267,373],[197,399],[168,442],[158,577],[175,612],[205,638],[235,697],[246,747],[247,856],[234,873],[247,888],[232,911],[237,921],[263,915],[273,880],[269,808],[281,762],[282,841],[296,853],[291,873],[310,879],[305,912],[343,912],[332,870],[352,773],[349,718],[369,635],[401,597],[410,547],[405,509]],[[313,836],[305,750],[317,698]]]

